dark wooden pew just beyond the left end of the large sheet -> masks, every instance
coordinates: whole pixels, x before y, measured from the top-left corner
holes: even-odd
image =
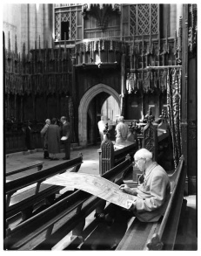
[[[60,163],[57,166],[50,167],[46,170],[41,170],[40,172],[36,172],[28,176],[23,176],[6,183],[6,218],[11,218],[20,212],[23,214],[23,219],[29,218],[34,210],[34,205],[36,208],[36,205],[42,201],[49,200],[52,202],[57,192],[63,187],[44,184],[43,181],[50,176],[63,173],[66,170],[70,170],[71,168],[73,169],[70,171],[77,172],[82,163],[83,156],[82,154],[79,154],[79,156],[71,159],[70,161]],[[28,188],[27,190],[14,195],[17,190],[23,189],[33,184],[35,184],[34,187]]]

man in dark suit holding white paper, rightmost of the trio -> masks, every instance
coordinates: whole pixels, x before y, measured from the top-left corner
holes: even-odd
[[[70,160],[70,140],[71,140],[71,131],[70,131],[70,122],[67,121],[65,116],[61,117],[62,122],[62,142],[64,142],[64,149],[65,149],[65,157],[63,160]]]

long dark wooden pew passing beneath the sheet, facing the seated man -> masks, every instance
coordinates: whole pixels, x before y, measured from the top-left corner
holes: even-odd
[[[131,158],[128,156],[123,163],[107,171],[104,178],[122,183],[124,174],[131,168]],[[77,190],[48,209],[29,218],[13,230],[8,230],[4,239],[4,249],[33,250],[49,249],[55,246],[77,225],[82,233],[85,218],[94,211],[103,200]],[[97,219],[94,220],[97,223]]]

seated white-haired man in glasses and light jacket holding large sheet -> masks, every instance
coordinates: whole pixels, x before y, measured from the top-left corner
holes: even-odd
[[[134,159],[138,169],[143,172],[143,182],[137,188],[131,189],[122,184],[119,189],[136,196],[130,211],[133,211],[140,221],[157,221],[164,215],[170,199],[169,176],[163,167],[152,161],[152,153],[147,149],[139,149]]]

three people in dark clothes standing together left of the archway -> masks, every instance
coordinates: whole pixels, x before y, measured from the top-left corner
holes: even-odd
[[[41,130],[44,147],[44,159],[58,160],[60,144],[64,143],[64,160],[70,159],[70,122],[65,116],[60,119],[61,127],[57,125],[57,119],[46,119],[44,128]]]

